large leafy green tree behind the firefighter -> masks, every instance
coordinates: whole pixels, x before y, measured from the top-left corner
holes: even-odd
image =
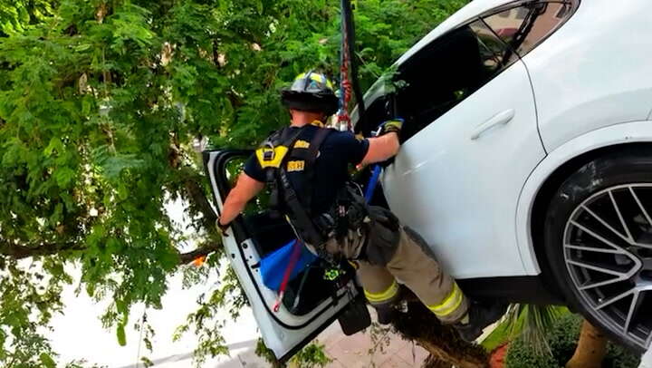
[[[466,0],[365,0],[362,88]],[[195,140],[253,147],[288,116],[278,90],[312,67],[336,74],[338,2],[19,0],[0,2],[0,363],[52,366],[43,337],[66,266],[114,302],[120,344],[135,303],[161,308],[182,265],[223,257]],[[165,209],[187,203],[197,249]],[[245,303],[235,277],[200,301],[197,353],[223,353],[206,324]]]

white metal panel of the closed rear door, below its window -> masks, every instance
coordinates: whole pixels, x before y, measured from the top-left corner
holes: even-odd
[[[510,110],[512,121],[473,139],[485,121]],[[452,276],[523,275],[513,214],[544,155],[532,87],[518,62],[407,140],[382,185],[392,211]]]

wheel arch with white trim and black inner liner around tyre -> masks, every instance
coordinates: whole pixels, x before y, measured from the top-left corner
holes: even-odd
[[[568,140],[551,151],[525,182],[516,211],[516,234],[528,275],[539,275],[549,291],[563,298],[545,256],[543,227],[551,196],[570,173],[595,158],[624,148],[652,147],[652,121],[611,125]]]

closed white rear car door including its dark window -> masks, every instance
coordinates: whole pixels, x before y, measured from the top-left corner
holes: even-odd
[[[525,65],[476,18],[414,53],[398,78],[406,125],[382,177],[390,208],[452,276],[524,275],[516,204],[545,155]]]

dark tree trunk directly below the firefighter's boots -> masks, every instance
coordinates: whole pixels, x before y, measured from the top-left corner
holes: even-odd
[[[453,327],[442,325],[423,304],[408,303],[408,313],[394,321],[398,333],[430,353],[424,367],[485,368],[488,356],[484,349],[460,339]]]

